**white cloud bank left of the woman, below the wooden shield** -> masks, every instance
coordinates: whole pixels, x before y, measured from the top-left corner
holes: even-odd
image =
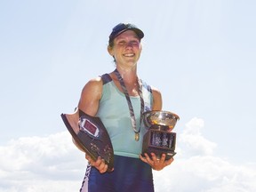
[[[68,132],[11,140],[0,154],[0,191],[78,190],[87,164]]]

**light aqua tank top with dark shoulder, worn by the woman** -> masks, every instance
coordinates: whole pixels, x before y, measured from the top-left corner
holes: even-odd
[[[123,92],[120,92],[116,84],[108,74],[102,76],[103,91],[100,99],[100,108],[97,116],[105,125],[111,139],[114,154],[117,156],[129,156],[139,158],[142,149],[143,136],[147,132],[143,122],[140,125],[140,97],[132,97],[132,107],[136,117],[137,130],[140,128],[140,140],[135,140],[132,129],[130,111]],[[142,95],[144,111],[152,109],[153,96],[150,86],[142,83]]]

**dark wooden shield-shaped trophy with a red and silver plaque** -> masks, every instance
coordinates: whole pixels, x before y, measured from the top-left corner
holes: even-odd
[[[79,148],[91,156],[93,161],[101,156],[105,164],[108,164],[108,172],[111,172],[114,167],[114,150],[100,117],[89,116],[76,108],[73,114],[61,114],[61,118]]]

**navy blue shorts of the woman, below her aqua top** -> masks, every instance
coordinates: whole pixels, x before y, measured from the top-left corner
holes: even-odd
[[[80,192],[154,192],[152,169],[139,158],[115,156],[114,171],[88,165]]]

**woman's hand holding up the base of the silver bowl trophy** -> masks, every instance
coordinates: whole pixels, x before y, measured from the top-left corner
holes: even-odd
[[[147,153],[144,154],[145,157],[140,155],[140,160],[149,164],[152,167],[152,169],[156,171],[160,171],[164,169],[165,166],[172,164],[174,160],[173,157],[169,160],[165,160],[165,157],[166,157],[165,154],[163,154],[160,159],[156,158],[155,153],[151,153],[150,155],[151,155],[151,158],[148,156]]]

